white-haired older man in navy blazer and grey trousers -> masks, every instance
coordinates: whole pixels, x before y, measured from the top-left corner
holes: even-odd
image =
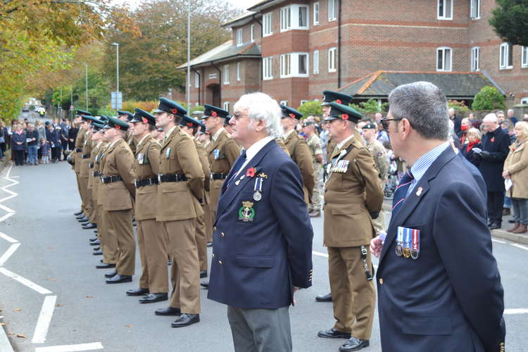
[[[244,150],[218,201],[208,298],[228,306],[235,351],[291,351],[289,305],[312,281],[313,230],[301,172],[274,140],[280,116],[252,93],[230,119]]]

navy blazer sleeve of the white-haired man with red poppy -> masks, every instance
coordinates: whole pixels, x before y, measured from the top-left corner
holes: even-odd
[[[301,174],[293,162],[277,168],[272,178],[271,206],[288,246],[291,279],[295,287],[312,285],[313,230],[304,202]]]

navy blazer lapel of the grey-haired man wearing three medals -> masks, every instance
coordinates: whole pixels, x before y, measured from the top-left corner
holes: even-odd
[[[455,156],[456,154],[453,149],[451,149],[451,146],[448,146],[447,149],[440,154],[436,161],[434,161],[434,163],[429,166],[425,172],[425,175],[423,175],[420,181],[415,184],[415,187],[403,202],[400,210],[398,210],[398,213],[396,213],[394,218],[391,218],[391,222],[389,222],[389,228],[387,229],[382,254],[379,256],[379,263],[382,262],[386,251],[391,246],[392,241],[394,241],[396,238],[396,227],[403,224],[409,215],[413,213],[418,203],[420,203],[420,200],[425,196],[427,191],[429,191],[429,181],[433,180],[434,177],[438,175],[438,172],[444,167],[444,165],[451,161],[451,159],[453,159]],[[420,188],[422,190],[418,191]]]

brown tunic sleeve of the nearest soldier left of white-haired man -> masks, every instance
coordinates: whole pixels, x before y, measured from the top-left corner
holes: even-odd
[[[184,136],[177,143],[176,148],[178,163],[187,177],[192,193],[196,199],[202,199],[205,176],[193,140],[189,136]]]

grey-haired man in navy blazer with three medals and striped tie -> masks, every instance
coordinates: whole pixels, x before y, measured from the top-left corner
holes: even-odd
[[[429,82],[389,95],[396,156],[412,165],[372,239],[385,351],[504,351],[503,287],[482,177],[449,147],[446,97]],[[387,123],[388,122],[388,123]]]

